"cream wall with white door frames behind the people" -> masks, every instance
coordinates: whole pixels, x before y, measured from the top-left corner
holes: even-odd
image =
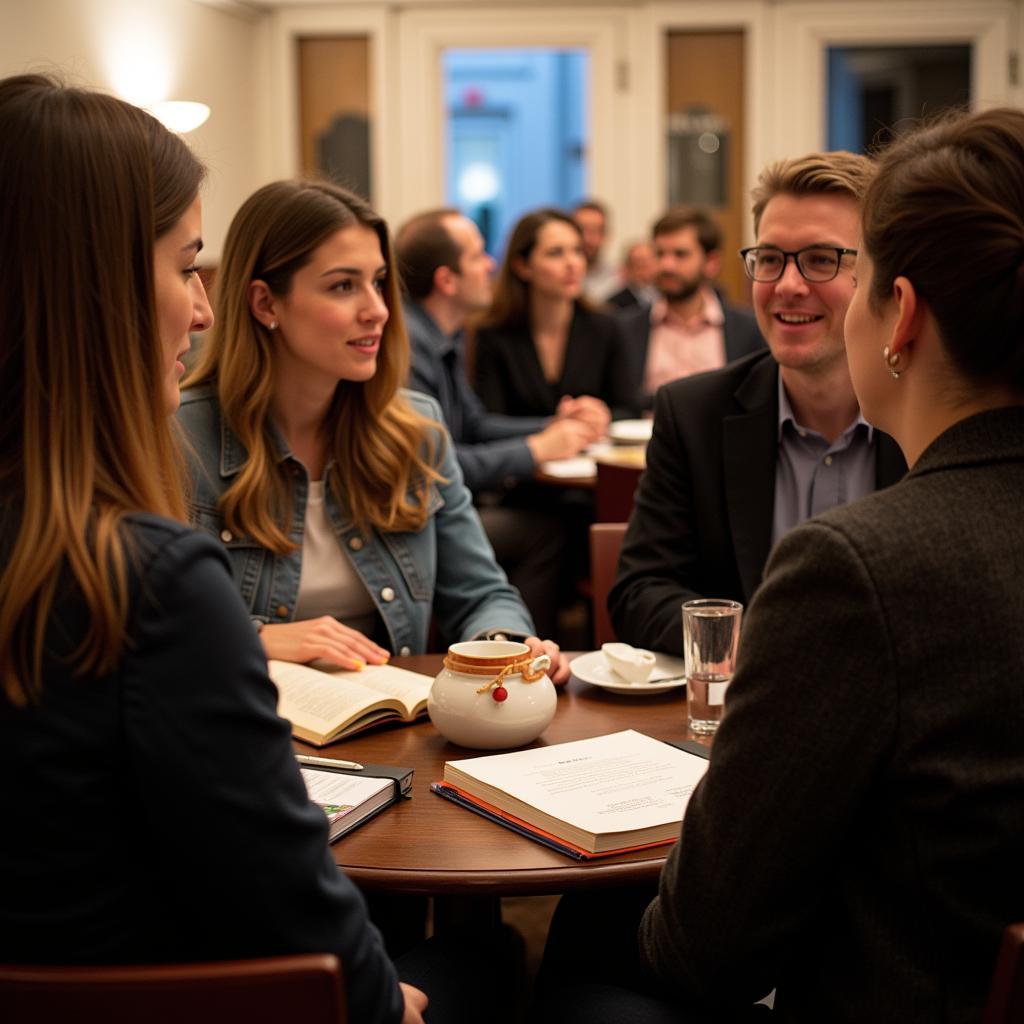
[[[830,43],[973,41],[978,105],[1024,101],[1010,80],[1024,48],[1024,0],[0,0],[0,75],[58,69],[118,91],[141,62],[156,98],[213,111],[188,136],[210,168],[204,258],[256,187],[299,170],[295,40],[371,41],[374,194],[392,223],[443,200],[438,55],[464,45],[566,40],[592,48],[591,181],[620,238],[643,233],[665,195],[665,32],[736,28],[748,39],[746,187],[775,157],[823,143],[823,53]],[[218,5],[219,4],[219,5]],[[258,9],[257,9],[258,8]],[[581,42],[582,41],[582,42]],[[1024,72],[1022,72],[1024,74]],[[136,97],[141,99],[142,97]],[[616,251],[612,245],[612,252]]]

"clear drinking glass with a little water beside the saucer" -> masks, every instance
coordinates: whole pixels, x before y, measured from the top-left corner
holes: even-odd
[[[683,605],[686,657],[686,714],[694,732],[709,735],[722,721],[725,690],[732,679],[739,646],[738,601],[701,598]]]

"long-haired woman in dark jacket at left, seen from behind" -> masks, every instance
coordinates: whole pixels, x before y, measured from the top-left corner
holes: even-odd
[[[328,849],[223,548],[183,522],[169,417],[212,321],[203,177],[137,108],[0,81],[0,959],[327,951],[350,1019],[422,1024]]]

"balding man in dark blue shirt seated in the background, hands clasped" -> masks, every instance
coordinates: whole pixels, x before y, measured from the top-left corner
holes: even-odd
[[[473,492],[498,563],[508,573],[542,636],[554,635],[561,521],[543,508],[497,500],[549,459],[566,459],[602,436],[603,406],[586,396],[559,402],[554,418],[489,413],[466,377],[466,321],[492,300],[494,260],[476,225],[458,210],[430,210],[398,230],[395,253],[407,293],[412,351],[410,386],[436,398]]]

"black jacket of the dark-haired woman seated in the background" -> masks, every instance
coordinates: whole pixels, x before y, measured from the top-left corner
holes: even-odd
[[[578,306],[565,344],[562,372],[545,379],[527,325],[481,328],[476,334],[476,392],[493,413],[553,416],[562,395],[600,398],[612,415],[628,415],[632,389],[617,319]]]

